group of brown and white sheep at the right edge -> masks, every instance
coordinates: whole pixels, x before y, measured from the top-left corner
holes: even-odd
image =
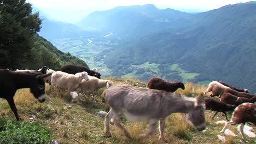
[[[206,109],[216,111],[212,119],[218,112],[223,112],[226,116],[227,111],[234,111],[231,121],[226,122],[225,127],[221,132],[224,133],[228,125],[241,123],[240,133],[244,139],[243,126],[245,123],[252,122],[256,125],[256,105],[254,104],[256,95],[249,94],[247,89],[237,89],[224,82],[218,81],[209,83],[204,95],[208,92],[212,92],[210,97],[219,96],[220,98],[220,101],[212,98],[205,100]],[[226,119],[228,120],[227,116]]]

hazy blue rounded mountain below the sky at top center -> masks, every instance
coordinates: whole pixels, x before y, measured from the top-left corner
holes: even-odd
[[[153,4],[134,5],[95,11],[77,25],[111,32],[126,38],[179,27],[179,23],[189,15],[191,14],[173,9],[158,9]]]

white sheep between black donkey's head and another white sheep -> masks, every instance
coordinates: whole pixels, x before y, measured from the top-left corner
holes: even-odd
[[[88,80],[88,73],[83,71],[78,75],[68,74],[62,71],[56,71],[51,75],[51,87],[58,86],[60,93],[61,89],[66,89],[67,91],[72,91],[78,88],[82,80]],[[79,95],[79,93],[78,93]]]

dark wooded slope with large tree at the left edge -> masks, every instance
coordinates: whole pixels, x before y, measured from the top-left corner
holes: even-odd
[[[81,59],[63,53],[49,41],[39,37],[42,19],[32,13],[25,1],[2,1],[0,5],[0,68],[59,70],[61,65],[86,65]]]

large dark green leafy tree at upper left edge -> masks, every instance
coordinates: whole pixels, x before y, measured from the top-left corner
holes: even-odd
[[[0,68],[26,68],[41,23],[25,0],[0,0]]]

